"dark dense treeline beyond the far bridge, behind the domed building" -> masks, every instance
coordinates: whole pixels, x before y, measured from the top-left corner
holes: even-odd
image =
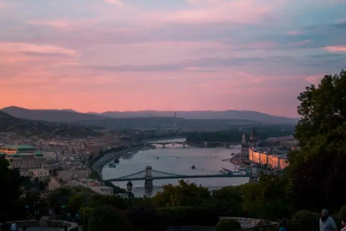
[[[246,133],[246,137],[249,140],[250,134],[253,131],[253,127],[244,127],[243,131]],[[257,126],[256,131],[259,134],[260,140],[265,140],[269,137],[284,137],[294,134],[294,126],[292,125],[262,125]],[[219,132],[194,132],[186,134],[186,140],[189,142],[198,141],[218,141],[218,142],[241,142],[243,137],[243,131],[240,129],[234,129],[230,131]]]

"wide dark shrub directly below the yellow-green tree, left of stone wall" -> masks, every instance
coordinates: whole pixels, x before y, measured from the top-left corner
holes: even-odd
[[[218,216],[205,208],[177,206],[159,208],[164,226],[216,226]]]

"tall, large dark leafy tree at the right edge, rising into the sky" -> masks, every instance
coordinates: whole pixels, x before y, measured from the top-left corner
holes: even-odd
[[[324,76],[298,99],[301,119],[295,137],[301,150],[288,156],[293,206],[337,210],[346,204],[340,190],[346,181],[346,72]]]

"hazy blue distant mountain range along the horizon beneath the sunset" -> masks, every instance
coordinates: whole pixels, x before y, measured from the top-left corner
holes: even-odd
[[[108,111],[103,113],[81,113],[71,109],[63,110],[32,110],[10,106],[1,109],[9,115],[30,120],[43,120],[55,122],[83,122],[110,119],[174,117],[174,111]],[[296,124],[298,118],[272,116],[256,111],[176,111],[178,118],[187,120],[249,120],[268,124]]]

